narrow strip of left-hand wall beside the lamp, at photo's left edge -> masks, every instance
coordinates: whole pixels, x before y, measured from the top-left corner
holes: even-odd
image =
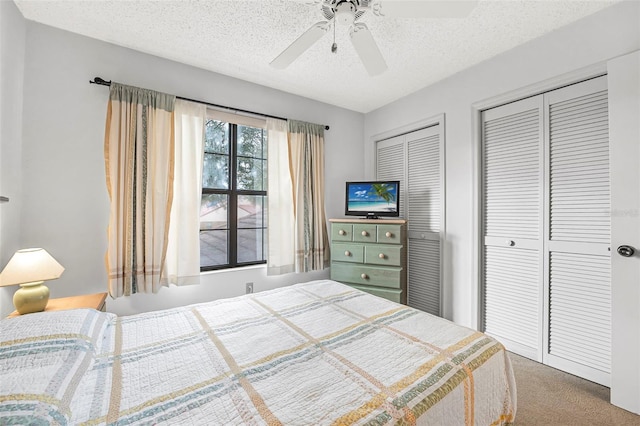
[[[21,248],[22,88],[26,22],[13,2],[0,1],[0,270]],[[13,287],[0,287],[0,318],[13,310]]]

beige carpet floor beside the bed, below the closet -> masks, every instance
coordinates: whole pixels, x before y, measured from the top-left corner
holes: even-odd
[[[609,388],[510,353],[518,389],[517,426],[640,425],[609,404]]]

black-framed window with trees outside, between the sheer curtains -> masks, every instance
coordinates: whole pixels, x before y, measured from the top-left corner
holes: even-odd
[[[219,119],[228,115],[213,112],[205,125],[203,271],[266,263],[267,132],[259,120]]]

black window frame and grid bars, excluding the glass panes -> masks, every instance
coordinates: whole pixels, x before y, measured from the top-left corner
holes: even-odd
[[[200,272],[207,271],[217,271],[223,269],[233,269],[233,268],[241,268],[245,266],[253,266],[253,265],[264,265],[267,263],[266,255],[267,255],[267,212],[265,210],[267,205],[267,140],[266,140],[266,130],[264,127],[255,126],[253,124],[238,124],[231,121],[227,121],[224,119],[220,119],[215,117],[212,114],[207,114],[206,120],[215,120],[223,123],[227,123],[229,125],[229,149],[228,149],[228,157],[229,157],[229,182],[227,189],[217,189],[217,188],[206,188],[203,184],[201,190],[201,197],[209,194],[218,194],[218,195],[226,195],[227,196],[227,263],[221,265],[209,265],[203,266],[200,263]],[[262,139],[262,149],[261,149],[261,157],[247,157],[244,155],[238,154],[238,127],[253,127],[260,128],[263,131],[263,139]],[[204,155],[206,154],[220,154],[218,152],[207,152],[206,148],[204,151]],[[263,181],[263,189],[255,190],[255,189],[238,189],[238,160],[240,158],[246,158],[249,160],[260,159],[264,161],[264,167],[262,169],[262,181]],[[203,169],[204,173],[204,169]],[[238,223],[238,199],[242,196],[262,196],[263,198],[263,206],[261,209],[261,217],[262,217],[262,226],[260,227],[249,227],[243,228],[239,226]],[[250,229],[250,230],[262,230],[262,260],[255,260],[249,262],[238,262],[238,230]],[[200,228],[200,233],[202,232],[211,232],[208,229]],[[202,250],[202,249],[201,249]]]

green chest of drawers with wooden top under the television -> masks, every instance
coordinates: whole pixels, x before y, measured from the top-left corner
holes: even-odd
[[[331,279],[407,303],[407,221],[330,219]]]

